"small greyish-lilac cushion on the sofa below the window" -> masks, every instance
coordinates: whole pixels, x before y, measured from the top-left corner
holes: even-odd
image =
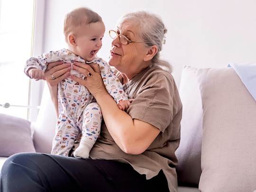
[[[26,119],[0,113],[0,156],[9,157],[20,152],[36,152]]]

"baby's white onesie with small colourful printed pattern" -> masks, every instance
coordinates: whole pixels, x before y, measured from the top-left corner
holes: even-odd
[[[64,63],[71,63],[71,75],[84,78],[83,74],[73,69],[73,61],[85,63],[85,60],[66,49],[50,51],[38,58],[29,58],[24,72],[29,76],[27,70],[31,67],[45,71],[48,63],[62,60]],[[99,65],[103,82],[114,100],[117,103],[121,100],[128,100],[122,84],[111,71],[107,62],[96,57],[87,63],[92,62]],[[65,78],[58,84],[58,107],[59,118],[51,153],[68,156],[77,135],[81,132],[82,137],[86,137],[85,139],[92,146],[100,134],[102,115],[99,105],[89,90],[70,77]]]

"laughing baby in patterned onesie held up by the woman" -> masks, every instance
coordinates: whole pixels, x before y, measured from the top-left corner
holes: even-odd
[[[96,56],[101,49],[104,32],[105,25],[97,13],[89,8],[74,9],[64,18],[64,35],[68,49],[50,51],[38,58],[29,58],[25,74],[30,78],[45,80],[47,64],[61,60],[71,63],[70,75],[86,79],[87,75],[84,76],[73,69],[73,61],[82,62],[84,65],[96,63],[101,69],[101,77],[107,91],[118,103],[119,108],[124,109],[122,106],[129,101],[122,84],[107,62]],[[82,132],[81,142],[74,151],[74,156],[88,158],[101,130],[102,115],[99,105],[86,87],[69,76],[58,84],[58,108],[59,118],[51,154],[68,156],[78,134]]]

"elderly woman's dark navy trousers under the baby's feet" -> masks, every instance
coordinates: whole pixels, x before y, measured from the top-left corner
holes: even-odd
[[[1,170],[0,192],[169,192],[163,171],[152,179],[126,163],[19,153]]]

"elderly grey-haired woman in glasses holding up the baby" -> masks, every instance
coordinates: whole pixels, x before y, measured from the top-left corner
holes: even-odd
[[[180,142],[182,104],[174,78],[159,59],[166,33],[162,20],[139,11],[110,30],[109,64],[130,99],[127,112],[106,91],[97,64],[74,63],[101,107],[104,123],[89,159],[25,153],[11,156],[2,171],[1,192],[176,192],[174,154]],[[159,67],[161,66],[161,67]],[[169,67],[170,69],[170,67]],[[54,74],[55,80],[51,79]],[[48,65],[47,83],[57,110],[57,84],[69,75],[61,62]]]

